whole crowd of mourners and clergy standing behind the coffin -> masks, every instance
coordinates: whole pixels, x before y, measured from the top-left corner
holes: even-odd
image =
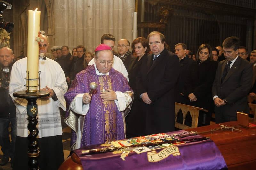
[[[193,53],[183,42],[171,51],[164,35],[156,31],[132,43],[127,39],[116,43],[112,34],[105,33],[93,52],[83,45],[73,49],[64,45],[53,46],[51,54],[48,37],[40,36],[44,39],[39,45],[39,54],[44,54],[39,55],[41,87],[50,93],[37,101],[40,169],[58,169],[64,161],[60,115],[72,129],[71,149],[78,149],[174,131],[175,102],[208,110],[200,111],[198,126],[210,125],[213,113],[216,123],[236,121],[237,111],[249,112],[247,97],[256,96],[256,49],[249,54],[237,37],[228,37],[215,48],[201,44]],[[1,73],[10,69],[8,85],[3,78],[0,82],[4,153],[0,165],[11,158],[13,169],[28,169],[27,101],[12,96],[26,90],[27,57],[23,51],[15,57],[4,47],[0,63]],[[91,91],[92,82],[98,86]],[[183,119],[178,114],[177,122]],[[188,114],[185,124],[191,123]]]

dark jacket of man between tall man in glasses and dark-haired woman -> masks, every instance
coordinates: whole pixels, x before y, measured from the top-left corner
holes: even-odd
[[[197,85],[197,73],[197,63],[185,56],[180,61],[180,76],[175,88],[175,102],[189,104],[188,94],[192,93]]]

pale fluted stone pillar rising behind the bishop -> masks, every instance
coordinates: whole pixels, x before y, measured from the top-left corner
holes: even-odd
[[[103,33],[132,41],[134,0],[54,0],[54,45],[93,51]]]

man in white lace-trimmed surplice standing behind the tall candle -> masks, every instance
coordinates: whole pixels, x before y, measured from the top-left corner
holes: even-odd
[[[58,169],[64,161],[62,146],[62,128],[60,121],[60,110],[66,110],[66,101],[64,94],[67,92],[68,85],[60,65],[45,57],[48,49],[48,37],[40,34],[44,42],[39,44],[38,68],[41,71],[40,88],[50,93],[50,96],[37,100],[38,105],[38,123],[39,130],[39,167],[40,169]],[[9,93],[12,96],[14,92],[26,90],[25,78],[27,70],[27,57],[20,59],[12,66]],[[15,98],[12,96],[16,105],[17,116],[17,138],[14,154],[13,169],[28,169],[28,120],[26,99]]]

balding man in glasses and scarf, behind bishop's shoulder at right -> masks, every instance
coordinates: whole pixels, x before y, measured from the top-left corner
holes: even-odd
[[[124,66],[126,70],[128,70],[129,65],[131,63],[132,59],[132,53],[129,51],[130,48],[130,42],[127,39],[121,39],[118,41],[117,44],[117,50],[118,50],[118,57],[122,60],[124,63]]]

